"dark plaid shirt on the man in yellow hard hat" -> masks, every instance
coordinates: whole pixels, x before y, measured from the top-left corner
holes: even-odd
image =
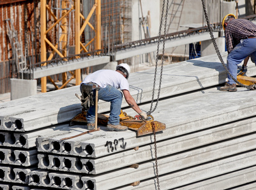
[[[246,19],[234,19],[229,22],[225,29],[227,52],[240,43],[241,39],[256,36],[256,25]]]

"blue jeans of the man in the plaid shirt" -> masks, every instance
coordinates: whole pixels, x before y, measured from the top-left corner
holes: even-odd
[[[248,55],[255,63],[256,60],[256,38],[241,39],[240,43],[229,53],[227,56],[227,69],[230,74],[236,79],[237,65],[240,64]],[[229,85],[236,84],[236,82],[229,76],[227,76]]]

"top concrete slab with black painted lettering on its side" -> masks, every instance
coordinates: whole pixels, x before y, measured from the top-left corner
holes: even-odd
[[[255,91],[244,88],[239,88],[239,91],[232,93],[232,96],[229,92],[220,92],[216,88],[211,88],[202,92],[161,100],[158,103],[158,109],[153,112],[153,116],[155,121],[165,123],[167,128],[158,133],[156,139],[174,138],[256,116],[256,106],[253,102],[256,102]],[[149,105],[141,105],[140,107],[147,110]],[[124,111],[130,114],[132,109]],[[163,113],[168,113],[168,115],[164,114],[163,117]],[[69,140],[61,140],[64,136],[53,139],[40,137],[38,138],[38,151],[57,154],[72,153],[97,158],[153,142],[153,135],[137,138],[135,132],[130,130],[126,132],[105,132],[103,130]],[[75,134],[70,134],[69,137],[72,135]],[[118,144],[115,145],[114,142],[118,142]],[[75,149],[79,152],[64,151],[64,143],[75,145]],[[53,148],[54,144],[58,144],[57,147],[60,149],[56,151]]]

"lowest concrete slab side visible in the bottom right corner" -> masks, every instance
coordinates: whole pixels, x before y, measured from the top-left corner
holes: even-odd
[[[177,189],[240,189],[236,186],[241,186],[242,189],[252,189],[252,187],[256,187],[256,166],[245,168],[243,170],[238,170],[236,172],[232,172],[229,175],[221,175],[220,177],[215,177],[210,180],[204,180],[202,182],[197,182],[196,184],[191,184],[186,187],[181,187]],[[244,184],[250,184],[251,186],[244,186]]]

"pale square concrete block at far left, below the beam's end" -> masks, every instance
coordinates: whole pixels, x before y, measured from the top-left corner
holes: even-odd
[[[11,79],[11,100],[36,95],[36,80]]]

